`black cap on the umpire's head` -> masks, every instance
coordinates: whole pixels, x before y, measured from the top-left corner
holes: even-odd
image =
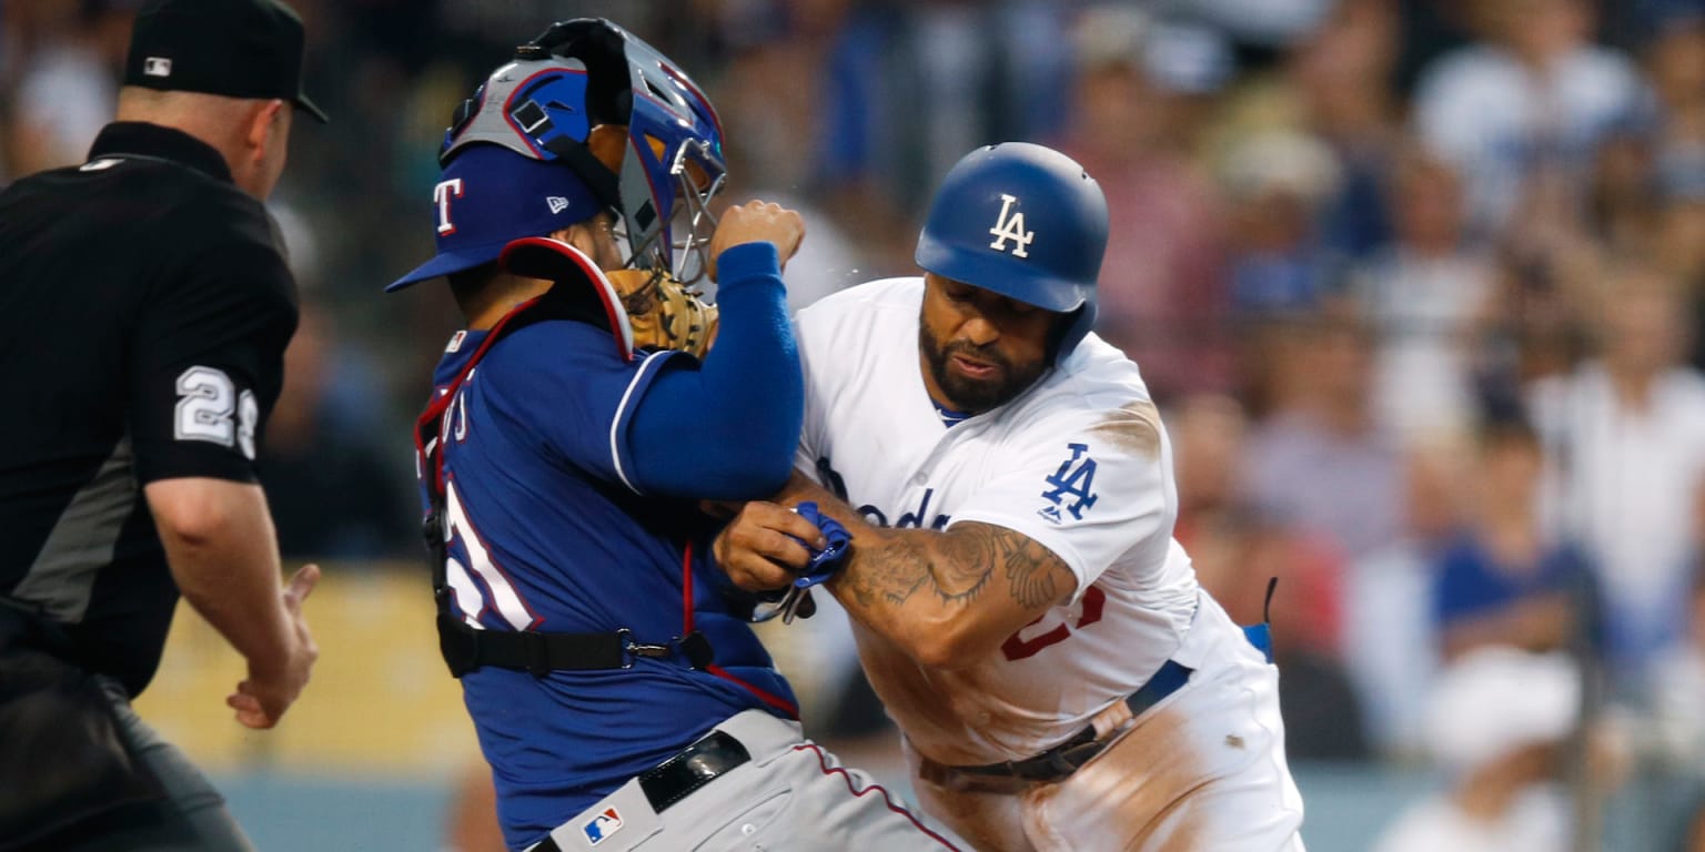
[[[278,0],[148,0],[136,12],[124,85],[283,99],[326,121],[302,94],[302,19]]]

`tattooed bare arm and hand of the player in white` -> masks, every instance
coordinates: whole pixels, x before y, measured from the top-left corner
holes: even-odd
[[[1066,562],[1023,533],[977,521],[945,532],[876,527],[798,474],[779,503],[748,503],[718,537],[718,562],[738,586],[786,586],[808,559],[798,540],[822,545],[817,527],[784,506],[806,499],[852,533],[827,588],[926,666],[975,663],[1078,588]]]

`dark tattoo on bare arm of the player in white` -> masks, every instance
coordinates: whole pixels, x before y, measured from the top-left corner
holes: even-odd
[[[875,547],[861,547],[856,554],[859,571],[844,588],[863,605],[871,605],[876,596],[902,605],[919,591],[946,605],[970,603],[989,588],[999,567],[1013,600],[1035,608],[1059,596],[1054,573],[1066,571],[1061,557],[1030,537],[975,521],[929,540],[909,532],[883,535]]]

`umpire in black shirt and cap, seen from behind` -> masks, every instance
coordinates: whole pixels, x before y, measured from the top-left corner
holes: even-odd
[[[0,193],[0,849],[251,849],[130,700],[179,593],[247,659],[244,726],[317,656],[254,472],[297,325],[261,199],[326,119],[302,46],[275,0],[150,0],[89,162]]]

